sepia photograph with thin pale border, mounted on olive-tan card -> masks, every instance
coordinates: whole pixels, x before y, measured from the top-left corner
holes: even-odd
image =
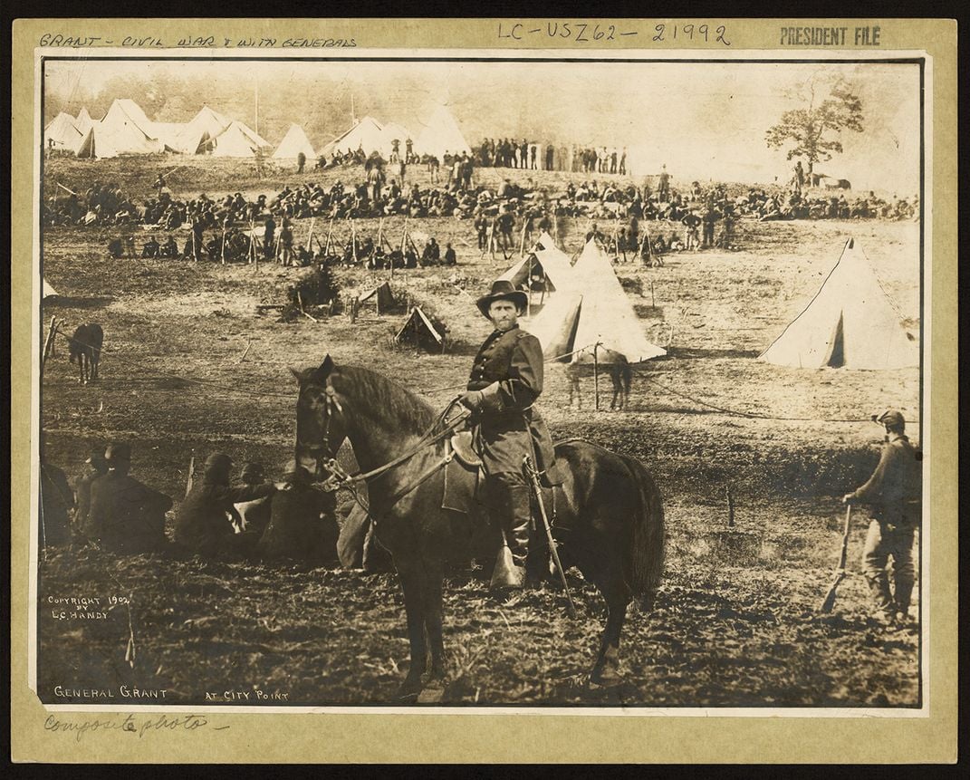
[[[41,702],[924,714],[927,61],[783,53],[38,55]]]

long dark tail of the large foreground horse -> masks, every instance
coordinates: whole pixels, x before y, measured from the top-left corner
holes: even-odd
[[[653,608],[663,574],[663,500],[654,478],[635,458],[621,456],[630,469],[639,493],[633,515],[632,542],[627,566],[630,590],[644,610]]]

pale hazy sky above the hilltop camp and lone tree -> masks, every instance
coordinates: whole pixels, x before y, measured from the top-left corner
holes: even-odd
[[[328,125],[347,125],[353,94],[358,118],[373,114],[419,129],[429,108],[444,103],[472,145],[486,136],[507,135],[628,146],[645,172],[665,163],[681,178],[742,180],[790,174],[784,152],[769,150],[764,133],[782,112],[801,105],[792,100],[792,87],[838,75],[862,98],[866,129],[844,133],[844,153],[819,163],[817,170],[850,179],[855,189],[900,196],[919,189],[916,65],[75,61],[49,62],[46,87],[62,97],[79,84],[98,93],[114,76],[147,80],[161,72],[205,76],[216,98],[220,90],[252,91],[258,79],[261,105],[270,103],[266,98],[275,85],[307,81],[306,101],[277,109],[286,114],[272,117],[279,121],[318,125],[315,107],[326,102]],[[335,104],[343,107],[336,115],[345,114],[344,120],[333,118]],[[218,109],[217,99],[210,105]],[[345,126],[314,129],[317,140],[326,141]]]

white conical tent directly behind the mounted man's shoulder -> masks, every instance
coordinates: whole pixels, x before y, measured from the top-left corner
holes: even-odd
[[[529,326],[547,358],[575,351],[570,362],[590,363],[595,344],[599,344],[596,359],[600,363],[640,363],[666,354],[647,341],[609,257],[595,241],[587,242],[571,275],[565,278],[565,288]]]

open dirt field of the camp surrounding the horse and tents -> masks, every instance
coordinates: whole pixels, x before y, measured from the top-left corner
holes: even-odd
[[[193,161],[172,177],[177,197],[271,193],[284,181],[292,186],[358,176],[278,174],[260,181],[251,167],[205,162],[203,168]],[[116,181],[142,199],[157,171],[176,164],[55,160],[47,164],[45,184],[78,189],[92,179]],[[566,179],[532,173],[552,188]],[[516,172],[482,176],[516,178]],[[385,229],[400,236],[402,221],[385,220]],[[298,241],[308,223],[296,225]],[[585,219],[566,221],[566,252],[578,253],[588,226]],[[45,327],[56,315],[72,328],[99,322],[106,333],[96,384],[78,385],[65,342],[49,360],[42,412],[49,460],[73,475],[92,443],[130,440],[133,473],[177,501],[193,454],[199,460],[221,448],[237,463],[258,460],[278,470],[293,445],[296,385],[288,368],[318,364],[328,352],[337,363],[396,377],[443,406],[459,392],[470,357],[489,332],[471,299],[507,264],[479,257],[470,221],[411,220],[411,227],[458,251],[457,269],[397,271],[392,280],[402,301],[427,307],[447,324],[448,346],[440,355],[394,343],[404,309],[380,317],[365,312],[356,324],[343,314],[293,323],[277,322],[273,311],[258,314],[257,304],[282,302],[296,270],[112,260],[106,247],[119,229],[47,230],[44,276],[62,298],[44,307]],[[358,230],[375,236],[376,225],[362,222]],[[147,235],[137,228],[125,232]],[[456,572],[446,588],[452,663],[446,700],[919,702],[917,632],[877,631],[865,621],[869,602],[858,564],[862,510],[835,612],[827,618],[815,613],[837,562],[838,498],[871,471],[882,436],[871,423],[836,421],[865,420],[887,406],[916,420],[919,372],[802,371],[754,359],[804,308],[850,237],[863,247],[907,326],[918,331],[919,224],[742,220],[737,233],[736,251],[676,253],[662,269],[616,267],[648,333],[672,333],[669,355],[634,376],[630,411],[593,412],[592,378],[583,380],[583,407],[569,408],[562,368],[547,369],[540,403],[554,436],[581,436],[640,458],[663,491],[666,573],[657,608],[632,615],[624,634],[627,683],[609,691],[585,684],[602,602],[576,572],[580,619],[574,622],[551,590],[501,604],[480,578]],[[373,278],[340,272],[344,289],[370,286]],[[604,378],[604,408],[608,386]],[[919,428],[911,428],[918,439]],[[727,526],[728,486],[736,505],[733,527]],[[56,685],[116,688],[125,681],[140,690],[166,689],[169,703],[253,703],[262,692],[287,697],[259,699],[264,703],[378,704],[393,698],[406,671],[404,605],[390,576],[174,557],[114,559],[87,548],[49,551],[40,570],[45,700],[54,699]],[[124,604],[100,620],[57,620],[47,601],[83,596],[104,604],[112,595],[131,598],[130,626]],[[134,666],[125,659],[130,634]],[[233,691],[250,699],[227,699]],[[207,700],[207,692],[217,696]]]

